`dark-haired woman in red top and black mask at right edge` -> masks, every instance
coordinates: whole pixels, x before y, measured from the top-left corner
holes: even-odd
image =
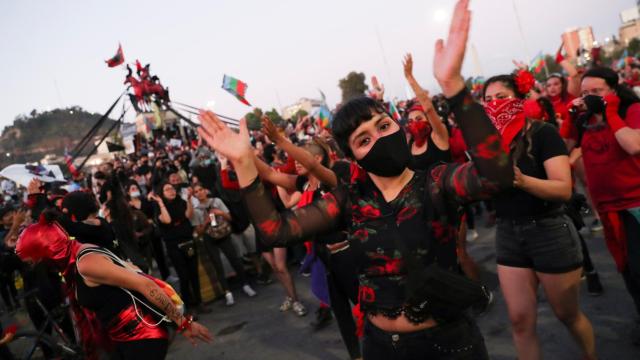
[[[585,72],[581,89],[569,143],[581,150],[607,247],[640,314],[640,98],[603,67]],[[640,323],[632,336],[640,345]]]

